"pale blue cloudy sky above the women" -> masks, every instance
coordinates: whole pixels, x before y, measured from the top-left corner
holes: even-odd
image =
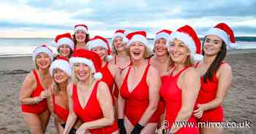
[[[146,30],[191,25],[202,36],[217,23],[236,36],[256,35],[255,0],[1,0],[0,37],[54,37],[77,23],[89,33],[111,37],[116,29]]]

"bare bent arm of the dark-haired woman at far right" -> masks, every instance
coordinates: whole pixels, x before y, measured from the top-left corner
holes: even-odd
[[[222,66],[219,67],[219,71],[217,71],[217,77],[218,89],[216,98],[208,103],[198,104],[198,109],[195,110],[195,117],[200,118],[203,115],[203,111],[215,109],[222,105],[225,95],[227,94],[227,90],[233,80],[231,67],[227,63],[222,64]]]

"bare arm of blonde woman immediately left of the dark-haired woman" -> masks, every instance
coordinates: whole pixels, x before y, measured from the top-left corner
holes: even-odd
[[[182,91],[182,104],[175,122],[187,122],[192,115],[200,90],[200,76],[197,74],[197,71],[195,71],[195,68],[189,68],[183,75],[181,74],[178,78],[178,87],[181,87]],[[176,133],[180,128],[181,127],[173,125],[170,132]]]

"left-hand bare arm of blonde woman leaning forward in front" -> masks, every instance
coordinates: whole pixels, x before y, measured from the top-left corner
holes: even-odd
[[[75,111],[73,109],[73,100],[72,100],[72,82],[70,82],[67,85],[67,95],[68,95],[68,101],[69,101],[69,117],[67,117],[66,126],[64,129],[64,134],[68,134],[73,125],[75,124],[76,119],[78,116],[75,114]]]

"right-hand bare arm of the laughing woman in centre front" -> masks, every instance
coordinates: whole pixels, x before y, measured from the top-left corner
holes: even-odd
[[[159,103],[159,88],[161,85],[161,79],[159,72],[153,66],[149,67],[146,81],[148,84],[149,104],[138,122],[138,124],[142,126],[146,126],[148,120],[151,119],[152,115],[157,110]]]

